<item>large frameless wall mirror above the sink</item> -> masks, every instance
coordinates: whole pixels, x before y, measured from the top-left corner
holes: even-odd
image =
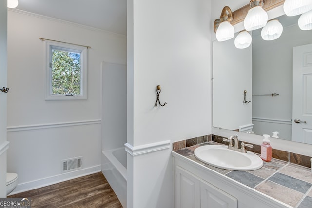
[[[213,42],[214,127],[312,144],[312,30],[300,30],[298,18],[276,18],[276,40],[253,31],[246,49],[235,37]]]

